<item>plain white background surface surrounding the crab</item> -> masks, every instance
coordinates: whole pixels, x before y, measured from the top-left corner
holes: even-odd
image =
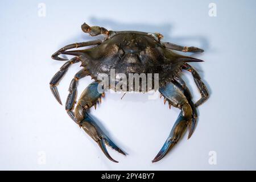
[[[208,15],[209,3],[217,16]],[[46,16],[38,16],[38,5]],[[0,5],[0,169],[256,169],[255,1],[1,1]],[[151,163],[179,110],[148,94],[106,94],[91,113],[129,155],[109,149],[112,163],[68,117],[49,89],[64,62],[57,49],[92,40],[88,23],[110,30],[160,32],[164,41],[205,49],[204,63],[192,64],[207,84],[191,139],[186,136],[165,158]],[[69,82],[81,68],[72,65],[59,85],[65,103]],[[183,74],[194,100],[199,93]],[[79,82],[79,93],[91,82]],[[209,152],[217,154],[210,165]]]

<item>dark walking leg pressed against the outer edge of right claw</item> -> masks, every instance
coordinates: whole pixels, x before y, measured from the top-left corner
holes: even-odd
[[[188,128],[189,128],[189,133],[188,133],[188,139],[191,138],[193,131],[195,130],[196,122],[197,122],[197,110],[196,106],[192,101],[192,96],[191,93],[185,84],[184,80],[180,78],[179,76],[174,77],[174,81],[172,81],[173,84],[175,84],[181,92],[185,95],[185,97],[188,100],[189,105],[191,106],[192,109],[192,121],[188,123]]]

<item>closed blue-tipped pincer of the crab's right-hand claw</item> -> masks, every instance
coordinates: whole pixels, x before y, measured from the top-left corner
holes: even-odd
[[[167,138],[166,142],[164,143],[161,150],[158,152],[158,155],[155,156],[155,159],[152,160],[152,163],[158,162],[162,159],[168,151],[175,146],[175,144],[179,141],[179,139],[184,134],[185,130],[187,129],[187,119],[183,117],[182,111],[177,118],[174,127],[172,127],[171,133]]]

